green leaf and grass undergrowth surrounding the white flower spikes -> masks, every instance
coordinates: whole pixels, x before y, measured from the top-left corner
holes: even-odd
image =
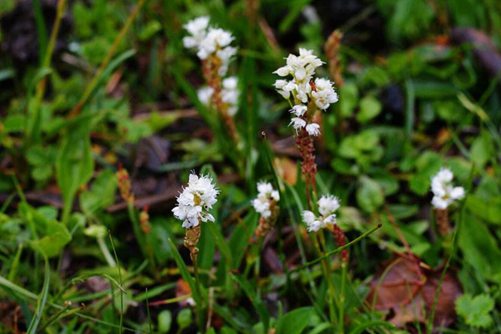
[[[200,15],[239,46],[238,156],[183,47]],[[500,31],[493,0],[0,1],[0,331],[197,331],[171,215],[191,169],[221,190],[199,243],[207,331],[338,330],[272,86],[305,47],[339,69],[319,73],[339,94],[316,140],[319,192],[340,197],[348,240],[382,224],[350,246],[344,330],[499,332]],[[447,236],[429,191],[443,166],[466,190]],[[280,214],[256,246],[258,180],[279,187]],[[341,259],[327,259],[339,286]]]

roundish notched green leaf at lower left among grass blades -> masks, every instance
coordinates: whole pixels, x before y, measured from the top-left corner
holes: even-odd
[[[46,257],[59,255],[61,250],[71,241],[71,235],[65,225],[53,220],[38,220],[37,229],[43,237],[30,242],[30,246]],[[43,223],[43,224],[40,224]]]

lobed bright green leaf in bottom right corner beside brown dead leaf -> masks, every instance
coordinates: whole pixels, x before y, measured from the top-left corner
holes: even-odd
[[[494,300],[486,294],[472,297],[462,295],[456,300],[456,312],[473,327],[488,328],[492,325],[489,312],[494,308]]]

